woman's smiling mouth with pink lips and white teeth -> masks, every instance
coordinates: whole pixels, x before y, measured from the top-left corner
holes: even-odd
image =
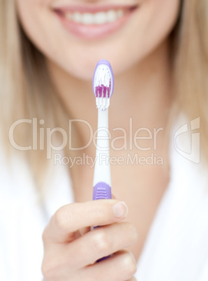
[[[75,36],[101,38],[124,25],[138,6],[53,8],[64,27]]]

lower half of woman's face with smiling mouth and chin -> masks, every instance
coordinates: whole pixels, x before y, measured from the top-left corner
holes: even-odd
[[[138,64],[167,38],[180,0],[15,0],[24,31],[70,75],[91,79],[99,59],[114,74]]]

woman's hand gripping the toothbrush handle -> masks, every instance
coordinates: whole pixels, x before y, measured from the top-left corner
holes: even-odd
[[[138,233],[133,224],[121,222],[126,212],[124,203],[115,199],[72,203],[57,210],[43,232],[45,280],[135,280],[135,260],[123,248],[135,243]],[[90,226],[101,227],[90,231]]]

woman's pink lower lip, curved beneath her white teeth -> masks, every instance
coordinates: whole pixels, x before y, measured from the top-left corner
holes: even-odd
[[[97,39],[113,34],[115,31],[121,29],[121,27],[123,27],[124,24],[126,24],[126,22],[129,20],[131,15],[133,15],[135,10],[136,8],[129,10],[118,20],[115,20],[114,22],[107,22],[105,24],[81,24],[79,22],[67,20],[63,14],[58,13],[57,11],[55,11],[55,13],[58,15],[61,23],[64,25],[64,28],[68,30],[70,34],[84,39]]]

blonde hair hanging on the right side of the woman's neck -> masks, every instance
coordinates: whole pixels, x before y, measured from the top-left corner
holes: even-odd
[[[190,120],[200,117],[202,157],[208,160],[208,2],[183,1],[173,31],[174,101]]]

